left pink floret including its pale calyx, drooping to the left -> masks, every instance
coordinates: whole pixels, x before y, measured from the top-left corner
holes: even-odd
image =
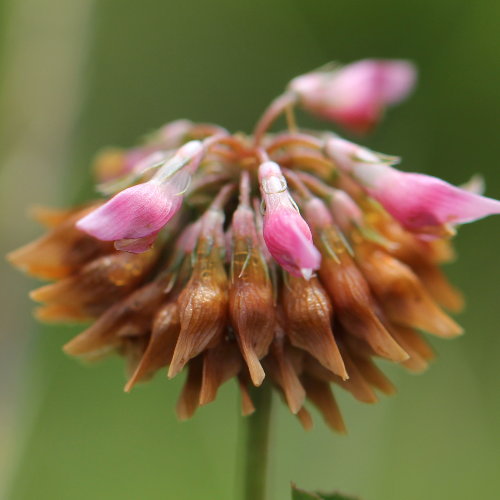
[[[121,191],[80,219],[77,227],[100,240],[118,242],[120,250],[145,251],[180,209],[202,156],[202,143],[188,142],[151,180]]]

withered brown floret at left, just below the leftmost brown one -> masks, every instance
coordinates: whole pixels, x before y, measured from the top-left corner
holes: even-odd
[[[37,316],[51,321],[94,318],[144,281],[157,256],[157,250],[149,250],[99,257],[78,274],[31,292],[33,300],[47,303],[38,309]]]

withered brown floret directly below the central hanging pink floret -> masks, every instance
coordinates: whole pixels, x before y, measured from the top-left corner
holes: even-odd
[[[319,281],[287,276],[282,299],[290,342],[333,373],[349,378],[331,329],[332,305]]]

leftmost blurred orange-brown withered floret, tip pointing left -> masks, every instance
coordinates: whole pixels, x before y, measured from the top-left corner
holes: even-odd
[[[75,227],[76,221],[96,206],[77,210],[46,235],[8,254],[7,259],[28,274],[51,280],[69,276],[87,262],[114,251],[112,243]]]

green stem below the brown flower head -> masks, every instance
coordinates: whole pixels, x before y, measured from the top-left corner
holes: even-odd
[[[269,427],[271,422],[271,386],[264,383],[253,391],[256,411],[246,417],[244,500],[265,500]]]

